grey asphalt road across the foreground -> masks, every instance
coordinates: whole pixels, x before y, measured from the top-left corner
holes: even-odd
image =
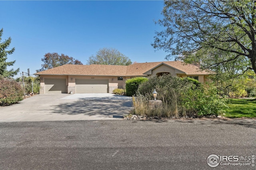
[[[211,154],[256,155],[256,119],[0,122],[0,170],[256,169]]]

